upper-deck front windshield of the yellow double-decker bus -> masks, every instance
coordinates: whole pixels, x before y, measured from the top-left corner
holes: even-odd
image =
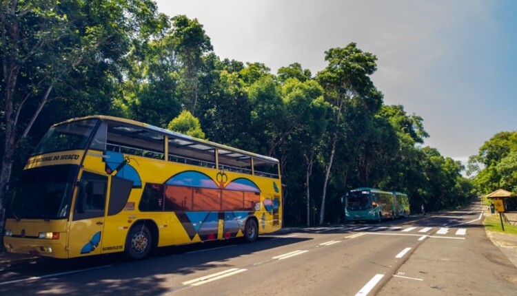
[[[97,119],[64,123],[50,127],[43,136],[32,155],[45,154],[53,151],[85,149],[88,138],[97,123]]]

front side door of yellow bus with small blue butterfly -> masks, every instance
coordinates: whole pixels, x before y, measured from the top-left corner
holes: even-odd
[[[70,223],[68,257],[101,253],[107,188],[107,176],[83,171]]]

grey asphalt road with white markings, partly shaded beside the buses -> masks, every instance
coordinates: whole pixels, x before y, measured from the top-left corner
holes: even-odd
[[[380,224],[344,224],[0,270],[0,295],[515,295],[517,268],[486,237],[479,204]]]

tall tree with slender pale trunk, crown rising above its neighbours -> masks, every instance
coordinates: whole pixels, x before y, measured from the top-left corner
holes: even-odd
[[[369,52],[358,49],[356,43],[350,43],[344,48],[331,48],[325,52],[325,61],[329,65],[318,73],[317,79],[325,89],[325,96],[333,107],[332,129],[330,129],[330,153],[325,166],[325,181],[321,200],[320,224],[325,218],[325,198],[327,183],[330,178],[336,143],[345,136],[343,134],[343,115],[354,100],[365,99],[365,104],[381,107],[382,95],[372,92],[374,84],[369,76],[377,70],[377,57]],[[376,94],[376,96],[369,96]],[[380,96],[379,96],[380,95]]]

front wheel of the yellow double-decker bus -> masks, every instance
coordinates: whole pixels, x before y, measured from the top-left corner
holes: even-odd
[[[147,256],[152,248],[152,235],[147,226],[136,224],[131,227],[125,238],[124,253],[132,260],[140,260]]]

